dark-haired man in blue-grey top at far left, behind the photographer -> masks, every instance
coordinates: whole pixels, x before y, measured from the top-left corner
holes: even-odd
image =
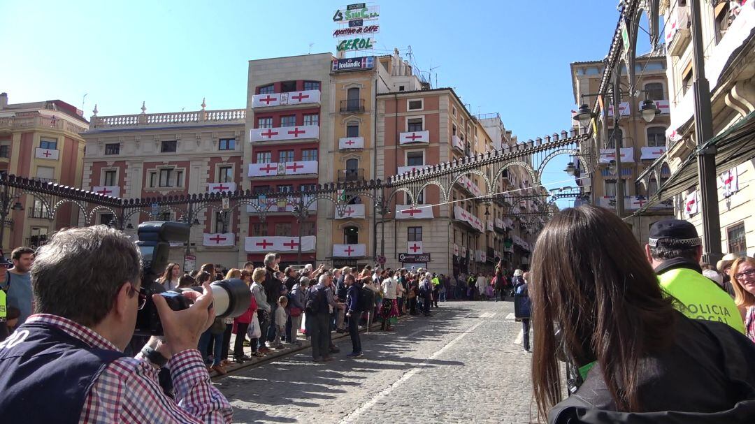
[[[18,323],[23,324],[32,315],[32,280],[29,269],[34,263],[34,250],[30,247],[16,247],[11,253],[13,268],[5,271],[5,285],[0,286],[7,294],[8,306],[18,308],[21,315]],[[0,269],[2,271],[2,269]]]

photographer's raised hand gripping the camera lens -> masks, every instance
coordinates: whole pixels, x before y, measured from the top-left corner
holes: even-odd
[[[186,291],[183,294],[193,301],[188,309],[174,311],[168,306],[165,297],[153,294],[157,312],[160,315],[165,343],[170,355],[176,355],[187,349],[196,349],[199,336],[207,330],[215,319],[212,305],[212,290],[210,284],[202,284],[202,293]]]

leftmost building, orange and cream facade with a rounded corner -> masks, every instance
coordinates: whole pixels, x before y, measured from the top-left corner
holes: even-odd
[[[80,134],[88,126],[82,111],[62,100],[8,103],[8,94],[0,94],[0,173],[81,186],[85,142]],[[63,204],[53,220],[42,198],[24,195],[11,204],[2,223],[3,247],[38,247],[48,235],[79,221],[73,204]]]

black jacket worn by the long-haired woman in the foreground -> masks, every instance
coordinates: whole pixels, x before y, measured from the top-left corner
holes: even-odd
[[[615,412],[596,364],[578,392],[550,410],[548,422],[755,422],[755,344],[726,324],[679,312],[670,336],[671,346],[638,367],[645,412]]]

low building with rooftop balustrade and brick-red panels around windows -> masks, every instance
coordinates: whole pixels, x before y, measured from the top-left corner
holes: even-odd
[[[192,112],[97,115],[82,134],[87,149],[83,160],[85,190],[120,198],[159,198],[205,192],[234,191],[242,186],[245,109]],[[244,211],[245,214],[245,211]],[[190,247],[171,245],[169,260],[183,265],[186,253],[197,263],[237,266],[239,247],[238,208],[198,208],[188,214],[183,205],[140,210],[123,223],[136,233],[149,220],[182,220],[191,226]],[[97,211],[95,222],[109,225],[115,217]]]

